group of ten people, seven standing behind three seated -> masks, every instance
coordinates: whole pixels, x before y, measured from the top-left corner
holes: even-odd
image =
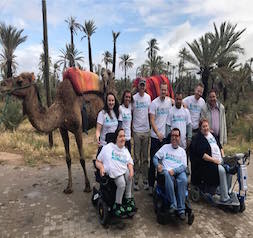
[[[227,142],[226,117],[215,90],[209,92],[205,102],[202,83],[196,86],[194,95],[184,99],[182,92],[176,92],[175,100],[167,96],[165,82],[160,85],[160,96],[153,101],[145,89],[146,81],[140,79],[137,93],[132,96],[126,90],[121,105],[113,93],[108,93],[105,106],[97,117],[96,165],[101,176],[109,174],[117,185],[115,214],[123,216],[134,209],[132,190],[143,188],[153,194],[157,171],[165,177],[170,211],[176,210],[184,220],[188,155],[191,155],[192,181],[219,186],[221,200],[229,202],[230,179],[222,166],[222,145]],[[115,132],[114,143],[107,144],[106,134],[112,132]],[[131,157],[131,137],[134,159]],[[124,192],[127,206],[122,205]]]

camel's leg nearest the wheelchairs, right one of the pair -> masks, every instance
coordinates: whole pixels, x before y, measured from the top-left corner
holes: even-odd
[[[84,152],[83,152],[83,137],[82,137],[81,128],[75,133],[75,137],[76,137],[76,144],[77,144],[79,155],[80,155],[80,163],[82,165],[83,172],[84,172],[84,179],[85,179],[84,192],[90,192],[91,188],[90,188],[90,181],[88,179],[86,166],[85,166]]]

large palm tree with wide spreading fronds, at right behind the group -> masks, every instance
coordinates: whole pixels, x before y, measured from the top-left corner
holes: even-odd
[[[194,40],[191,44],[187,43],[193,54],[185,52],[185,60],[199,69],[201,80],[205,86],[203,97],[206,99],[208,90],[208,80],[211,73],[221,67],[234,65],[237,54],[242,53],[243,49],[237,44],[240,35],[244,30],[235,32],[235,26],[222,23],[220,32],[214,24],[215,33],[206,33],[199,41]]]

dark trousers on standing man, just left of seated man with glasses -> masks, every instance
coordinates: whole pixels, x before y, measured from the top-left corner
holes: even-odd
[[[151,146],[150,146],[150,162],[148,170],[148,184],[149,187],[154,187],[155,184],[155,166],[153,163],[153,157],[155,153],[166,143],[166,140],[163,139],[161,142],[159,139],[151,137]]]

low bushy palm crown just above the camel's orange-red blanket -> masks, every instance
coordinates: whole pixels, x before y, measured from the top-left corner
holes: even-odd
[[[82,68],[80,63],[84,61],[84,57],[81,56],[82,52],[77,49],[73,49],[70,44],[66,44],[65,49],[60,49],[61,55],[59,55],[59,60],[56,62],[60,66],[63,65],[63,71],[67,66],[71,67],[71,63],[74,62],[74,65],[77,65],[78,68]]]

